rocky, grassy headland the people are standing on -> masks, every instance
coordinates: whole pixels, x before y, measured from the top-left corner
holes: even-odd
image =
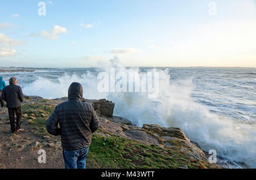
[[[47,152],[52,154],[54,161],[40,167],[35,164],[35,167],[62,168],[61,164],[56,163],[57,161],[62,162],[60,137],[49,135],[45,123],[55,106],[67,100],[67,97],[44,99],[38,96],[24,95],[22,125],[27,132],[20,133],[18,136],[28,136],[25,139],[32,137],[34,140],[22,143],[20,139],[24,139],[24,137],[17,137],[15,145],[10,147],[14,149],[13,153],[23,152],[23,160],[26,160],[32,157],[24,156],[25,153],[33,151],[37,156],[36,150],[47,149]],[[128,119],[113,116],[113,102],[106,99],[82,99],[82,101],[92,104],[99,119],[99,129],[93,133],[90,145],[92,156],[88,157],[89,168],[228,168],[218,162],[210,164],[205,152],[196,143],[190,141],[180,128],[164,128],[156,124],[143,124],[143,127],[140,128]],[[0,128],[4,129],[1,129],[3,132],[10,128],[7,117],[7,111],[0,112]],[[12,139],[11,142],[15,142],[15,136],[13,137],[12,134],[9,136]],[[0,135],[0,140],[6,146],[6,150],[10,143],[8,137]],[[15,152],[15,149],[18,151]],[[5,152],[5,149],[2,150]],[[54,153],[56,150],[58,155]],[[110,152],[115,155],[112,157]],[[0,160],[1,158],[4,159],[0,155]],[[11,164],[11,162],[9,163]],[[110,165],[105,165],[105,163]],[[7,165],[1,161],[0,168],[1,164],[4,168],[16,168],[14,164]],[[30,167],[30,165],[26,166]]]

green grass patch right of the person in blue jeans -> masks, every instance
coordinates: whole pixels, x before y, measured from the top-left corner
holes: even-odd
[[[93,135],[86,158],[88,168],[196,168],[179,148],[143,145],[117,136]]]

